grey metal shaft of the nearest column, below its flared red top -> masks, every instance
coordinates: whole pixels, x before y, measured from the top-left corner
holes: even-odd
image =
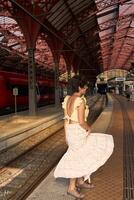
[[[36,115],[36,72],[34,60],[34,48],[28,49],[28,85],[29,85],[29,114]]]

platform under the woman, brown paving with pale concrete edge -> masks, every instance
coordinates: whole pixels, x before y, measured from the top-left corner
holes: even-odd
[[[113,115],[113,99],[109,96],[107,107],[95,121],[92,126],[92,132],[107,133]],[[120,126],[120,124],[119,124]],[[109,130],[109,134],[111,131]],[[114,135],[115,140],[117,137]],[[117,143],[117,142],[116,142]],[[84,200],[122,200],[122,135],[118,141],[118,148],[108,162],[93,174],[94,188],[83,190],[85,193]],[[115,166],[115,163],[117,164]],[[41,184],[33,191],[27,200],[73,200],[74,197],[67,195],[68,180],[64,178],[55,179],[53,176],[54,169],[41,182]]]

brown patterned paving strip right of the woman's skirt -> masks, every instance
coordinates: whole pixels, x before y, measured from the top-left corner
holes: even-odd
[[[107,133],[114,136],[115,149],[108,162],[92,176],[94,189],[83,190],[84,200],[123,199],[123,119],[120,105],[114,103],[113,114]]]

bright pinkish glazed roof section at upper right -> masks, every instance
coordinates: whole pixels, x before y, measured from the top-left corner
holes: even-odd
[[[103,69],[131,68],[134,56],[134,1],[96,1]]]

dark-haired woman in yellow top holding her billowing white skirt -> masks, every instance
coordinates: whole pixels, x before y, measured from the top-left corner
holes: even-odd
[[[55,178],[69,178],[67,193],[82,199],[77,188],[91,188],[90,175],[102,166],[113,151],[111,135],[91,133],[87,123],[88,106],[83,96],[88,88],[85,80],[74,77],[69,82],[70,95],[62,103],[64,109],[65,133],[68,150],[58,163]]]

